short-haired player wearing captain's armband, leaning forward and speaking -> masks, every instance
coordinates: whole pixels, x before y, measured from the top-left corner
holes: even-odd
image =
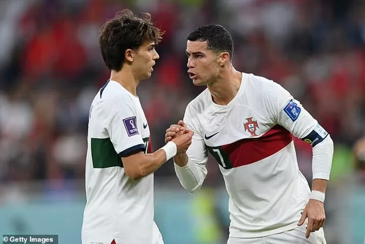
[[[233,67],[224,27],[205,25],[187,39],[188,73],[207,89],[166,130],[166,141],[194,131],[187,152],[174,157],[181,185],[191,192],[202,186],[209,152],[229,194],[229,244],[325,243],[330,135],[280,85]],[[294,136],[313,147],[312,191],[298,168]]]

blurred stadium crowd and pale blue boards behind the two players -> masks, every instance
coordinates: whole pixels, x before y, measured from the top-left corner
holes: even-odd
[[[109,77],[98,46],[105,20],[129,8],[165,30],[160,60],[138,87],[153,149],[204,87],[187,75],[186,36],[217,23],[234,39],[236,69],[273,79],[331,134],[329,244],[365,239],[365,1],[0,1],[0,234],[59,234],[81,243],[88,112]],[[311,184],[312,150],[296,141]],[[166,244],[225,243],[228,198],[218,166],[182,190],[172,161],[155,173],[156,222]],[[69,216],[67,216],[69,215]]]

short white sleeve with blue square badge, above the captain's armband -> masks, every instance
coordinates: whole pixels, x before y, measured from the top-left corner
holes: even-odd
[[[273,82],[266,96],[273,123],[281,125],[295,137],[304,139],[317,126],[318,121],[279,84]]]

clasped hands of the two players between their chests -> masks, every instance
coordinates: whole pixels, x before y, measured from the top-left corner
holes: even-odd
[[[192,143],[194,132],[188,130],[184,121],[179,120],[177,125],[171,125],[166,130],[165,143],[172,141],[176,144],[177,154],[185,153]]]

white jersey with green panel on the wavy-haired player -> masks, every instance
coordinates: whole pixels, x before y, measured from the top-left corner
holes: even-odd
[[[86,207],[82,243],[151,243],[154,175],[139,180],[124,172],[121,156],[150,153],[150,130],[138,97],[109,80],[90,107],[86,156]],[[157,233],[159,234],[159,233]]]

